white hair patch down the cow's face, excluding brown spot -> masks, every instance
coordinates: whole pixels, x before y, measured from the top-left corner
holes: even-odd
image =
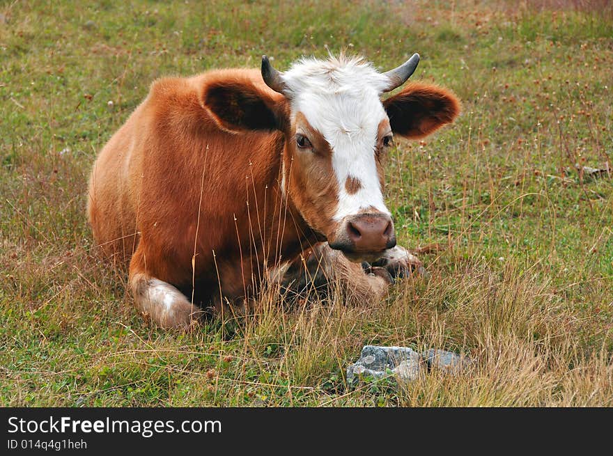
[[[284,81],[293,93],[291,112],[302,113],[332,150],[339,189],[334,221],[367,209],[389,215],[375,160],[380,124],[387,120],[380,94],[389,79],[357,58],[331,58],[298,61]],[[348,179],[359,182],[357,191],[347,191]]]

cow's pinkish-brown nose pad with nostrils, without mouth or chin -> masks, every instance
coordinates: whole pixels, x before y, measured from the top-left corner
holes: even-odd
[[[386,214],[359,214],[346,221],[350,250],[375,252],[396,245],[394,223]]]

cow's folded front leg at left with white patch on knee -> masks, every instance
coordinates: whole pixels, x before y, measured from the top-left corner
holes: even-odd
[[[187,329],[203,315],[202,310],[173,285],[147,274],[141,249],[137,249],[130,262],[129,285],[134,306],[145,320],[157,326]]]

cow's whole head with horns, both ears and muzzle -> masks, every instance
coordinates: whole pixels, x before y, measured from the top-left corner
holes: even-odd
[[[204,102],[229,129],[280,129],[286,145],[281,190],[309,226],[350,260],[373,260],[396,245],[383,200],[383,163],[393,135],[417,139],[450,123],[459,102],[444,88],[407,81],[414,54],[380,73],[361,58],[303,58],[281,73],[262,59],[271,96],[256,86],[209,89]]]

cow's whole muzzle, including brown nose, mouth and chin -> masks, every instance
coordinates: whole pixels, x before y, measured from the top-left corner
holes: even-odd
[[[332,249],[342,251],[352,261],[374,261],[396,246],[394,222],[382,212],[345,217],[334,239]]]

